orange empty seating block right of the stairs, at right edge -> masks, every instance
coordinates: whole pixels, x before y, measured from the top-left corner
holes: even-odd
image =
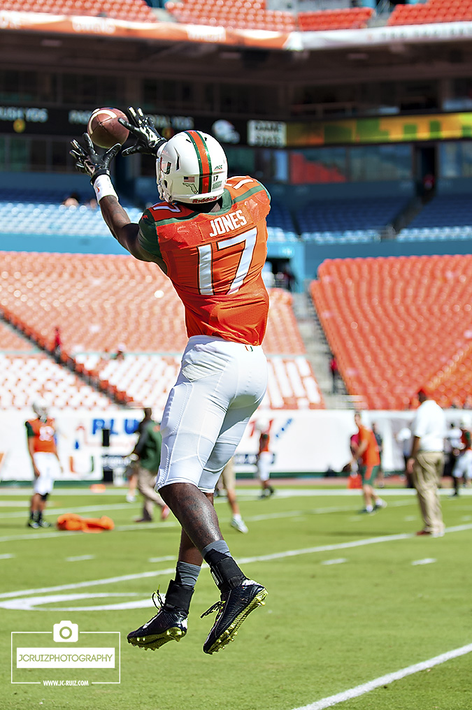
[[[325,261],[310,286],[348,392],[370,409],[439,404],[472,383],[472,255]]]

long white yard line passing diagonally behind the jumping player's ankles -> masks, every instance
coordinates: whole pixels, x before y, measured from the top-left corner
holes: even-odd
[[[462,532],[472,530],[471,525],[456,525],[455,528],[446,528],[446,532]],[[59,535],[63,533],[58,533]],[[331,552],[333,550],[348,550],[353,547],[365,547],[366,545],[377,545],[382,542],[396,542],[397,540],[411,540],[416,535],[403,532],[399,535],[383,535],[382,537],[369,537],[367,540],[353,540],[352,542],[339,542],[337,545],[319,545],[318,547],[305,547],[301,550],[286,550],[285,552],[274,552],[272,555],[259,555],[258,557],[241,557],[237,559],[239,564],[251,564],[252,562],[271,562],[274,559],[284,559],[286,557],[299,557],[299,555],[313,555],[316,552]],[[434,538],[440,540],[441,538]],[[432,541],[431,541],[432,542]],[[8,591],[0,594],[0,599],[11,599],[16,596],[26,594],[39,594],[46,591],[63,591],[64,589],[77,589],[79,587],[97,586],[101,584],[115,584],[116,582],[128,581],[130,579],[144,579],[145,577],[159,577],[164,574],[172,574],[174,567],[168,569],[155,569],[151,572],[139,572],[137,574],[124,574],[122,577],[107,577],[106,579],[92,579],[90,581],[76,581],[73,584],[60,584],[59,586],[45,586],[40,589],[20,589],[18,591]]]

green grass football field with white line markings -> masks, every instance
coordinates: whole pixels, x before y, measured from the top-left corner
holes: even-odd
[[[139,525],[139,502],[127,503],[123,489],[58,488],[49,520],[109,515],[114,530],[30,530],[28,490],[0,488],[0,708],[470,710],[469,491],[442,492],[447,532],[431,539],[414,536],[412,491],[387,488],[387,508],[361,515],[359,491],[276,485],[260,500],[258,488],[240,484],[247,535],[230,528],[225,499],[215,502],[233,556],[269,594],[235,643],[212,656],[202,646],[214,616],[200,618],[218,600],[208,567],[180,643],[151,652],[126,640],[154,615],[151,594],[173,576],[172,515]],[[116,643],[114,669],[17,667],[17,647],[74,647],[53,647],[61,621],[78,625],[81,647]]]

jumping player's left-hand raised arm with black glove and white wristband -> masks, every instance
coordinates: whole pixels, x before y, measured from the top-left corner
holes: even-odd
[[[139,227],[129,219],[128,213],[119,204],[117,193],[112,184],[109,166],[122,146],[117,143],[106,153],[97,153],[88,133],[84,133],[83,138],[85,148],[77,141],[72,141],[70,155],[75,160],[77,170],[90,176],[102,217],[107,223],[109,231],[132,256],[141,261],[154,261],[154,257],[139,246]]]

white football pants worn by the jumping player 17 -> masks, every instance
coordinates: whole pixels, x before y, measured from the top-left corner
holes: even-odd
[[[191,337],[163,412],[156,489],[191,483],[213,493],[266,387],[260,345]]]

